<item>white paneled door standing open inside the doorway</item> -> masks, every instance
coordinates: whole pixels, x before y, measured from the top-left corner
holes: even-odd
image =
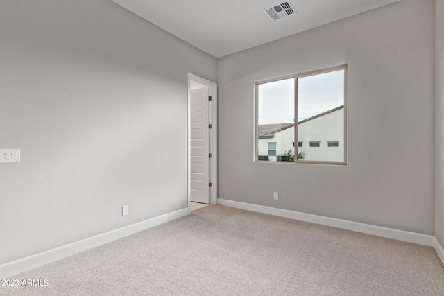
[[[210,204],[210,88],[191,90],[191,202]]]

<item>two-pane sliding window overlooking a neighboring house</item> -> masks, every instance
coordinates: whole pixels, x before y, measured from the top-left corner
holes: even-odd
[[[257,82],[255,120],[257,160],[346,164],[347,65]]]

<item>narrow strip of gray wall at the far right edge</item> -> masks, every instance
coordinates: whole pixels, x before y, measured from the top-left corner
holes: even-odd
[[[436,206],[435,236],[444,247],[444,0],[436,0]]]

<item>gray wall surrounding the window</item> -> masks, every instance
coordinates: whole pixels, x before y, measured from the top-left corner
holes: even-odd
[[[434,37],[404,0],[218,60],[219,198],[434,235]],[[343,63],[348,166],[253,162],[255,81]]]

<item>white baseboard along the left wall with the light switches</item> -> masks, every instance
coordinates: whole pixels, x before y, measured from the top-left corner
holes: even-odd
[[[98,247],[99,245],[104,245],[105,243],[110,243],[111,241],[115,241],[119,238],[135,234],[136,232],[142,232],[145,229],[167,223],[171,220],[176,220],[177,218],[187,216],[188,214],[188,208],[180,209],[169,214],[164,214],[162,216],[115,229],[110,232],[105,232],[104,234],[85,238],[82,241],[62,245],[61,247],[56,247],[52,250],[2,264],[0,265],[0,279],[7,279],[8,277],[12,277],[13,275],[17,275],[21,272],[37,268],[53,261],[58,261],[67,256],[92,249],[93,247]]]

